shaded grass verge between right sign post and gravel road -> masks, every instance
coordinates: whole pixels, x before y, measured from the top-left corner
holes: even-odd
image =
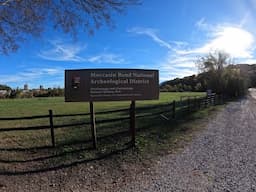
[[[154,119],[149,129],[140,131],[137,136],[139,154],[143,158],[152,158],[152,155],[166,155],[183,149],[196,133],[206,128],[208,118],[222,109],[223,105],[210,106],[176,121]]]

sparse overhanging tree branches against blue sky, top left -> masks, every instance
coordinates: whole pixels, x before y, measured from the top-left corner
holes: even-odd
[[[112,13],[122,13],[139,0],[0,0],[0,53],[16,51],[27,35],[39,36],[46,26],[92,34],[103,24],[113,27]]]

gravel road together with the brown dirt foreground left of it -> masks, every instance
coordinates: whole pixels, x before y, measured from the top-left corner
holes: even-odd
[[[150,166],[137,158],[127,161],[126,155],[0,176],[0,191],[256,191],[256,100],[228,104],[183,152]]]

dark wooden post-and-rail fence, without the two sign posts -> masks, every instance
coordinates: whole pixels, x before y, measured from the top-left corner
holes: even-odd
[[[180,114],[187,114],[196,110],[200,110],[202,108],[206,108],[210,105],[216,105],[223,103],[223,97],[211,94],[207,97],[187,97],[186,100],[182,97],[180,101],[173,101],[171,103],[165,104],[158,104],[152,106],[143,106],[136,108],[136,115],[135,118],[146,118],[146,117],[153,117],[160,115],[166,120],[169,119],[176,119],[178,113]],[[117,110],[108,110],[108,111],[100,111],[96,112],[96,115],[102,114],[112,114],[112,113],[121,113],[121,112],[130,112],[130,108],[124,109],[117,109]],[[166,117],[164,114],[168,114],[170,116]],[[49,124],[48,125],[41,125],[41,126],[31,126],[31,127],[14,127],[14,128],[0,128],[0,132],[12,132],[12,131],[36,131],[36,130],[49,130],[51,133],[51,140],[52,146],[55,146],[55,129],[60,128],[68,128],[74,126],[83,126],[83,125],[90,125],[91,122],[79,122],[79,123],[67,123],[67,124],[54,124],[54,118],[61,118],[61,117],[74,117],[74,116],[89,116],[90,113],[77,113],[77,114],[53,114],[52,110],[49,110],[48,115],[37,115],[37,116],[30,116],[30,117],[0,117],[0,121],[15,121],[15,120],[31,120],[31,119],[43,119],[48,118]],[[131,120],[131,115],[127,113],[128,116],[120,117],[120,118],[111,118],[111,119],[101,119],[96,120],[98,124],[105,124],[105,123],[113,123],[118,121],[126,121]],[[183,116],[183,115],[182,115]],[[89,118],[89,117],[88,117]]]

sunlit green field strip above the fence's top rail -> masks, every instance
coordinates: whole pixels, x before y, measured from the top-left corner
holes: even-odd
[[[148,106],[180,100],[181,96],[204,96],[200,92],[161,93],[159,100],[137,101],[137,106]],[[130,102],[95,102],[95,110],[111,110],[129,107]],[[0,100],[0,117],[17,117],[45,115],[52,109],[55,114],[86,113],[88,102],[64,102],[63,97],[32,98],[32,99],[2,99]]]

